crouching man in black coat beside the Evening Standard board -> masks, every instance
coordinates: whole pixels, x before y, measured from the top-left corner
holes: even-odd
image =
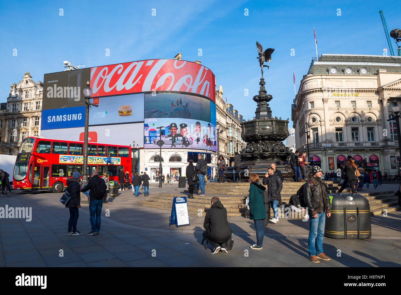
[[[203,227],[205,231],[203,236],[214,243],[213,254],[219,252],[219,250],[228,253],[227,243],[231,238],[233,232],[227,221],[227,209],[224,208],[218,197],[211,199],[211,208],[206,210],[205,222]]]

